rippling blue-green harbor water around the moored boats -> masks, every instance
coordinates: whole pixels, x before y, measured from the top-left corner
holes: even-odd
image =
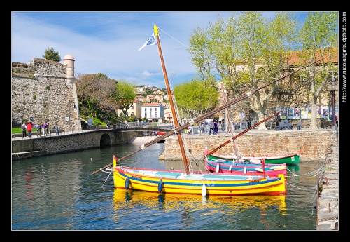
[[[153,144],[120,166],[181,169]],[[322,161],[288,166],[287,196],[188,196],[115,189],[99,170],[139,144],[39,156],[12,162],[11,228],[27,230],[315,230]],[[194,169],[205,170],[201,161]]]

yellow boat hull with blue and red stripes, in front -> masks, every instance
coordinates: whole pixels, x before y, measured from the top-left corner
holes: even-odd
[[[184,173],[113,167],[117,189],[134,189],[155,193],[202,194],[214,196],[286,195],[284,175],[279,177],[240,176],[212,173]]]

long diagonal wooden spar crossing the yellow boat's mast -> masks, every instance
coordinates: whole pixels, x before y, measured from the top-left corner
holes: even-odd
[[[155,28],[156,28],[156,26],[155,26]],[[158,29],[157,29],[157,32],[158,32]],[[157,36],[157,37],[158,37],[158,36]],[[159,44],[158,44],[158,46],[159,46]],[[158,47],[158,48],[159,48],[159,47]],[[161,53],[161,52],[160,52],[160,53]],[[323,60],[323,58],[321,58],[320,60]],[[284,76],[281,76],[280,78],[278,78],[278,79],[276,79],[276,80],[274,80],[274,81],[271,81],[270,83],[267,83],[266,85],[261,86],[260,88],[256,88],[255,90],[251,91],[250,93],[247,93],[246,95],[241,96],[240,98],[237,98],[237,99],[235,99],[235,100],[232,100],[231,102],[228,102],[228,103],[226,103],[225,105],[222,105],[221,107],[218,107],[218,108],[216,108],[216,109],[214,109],[214,110],[211,110],[211,111],[208,112],[207,114],[203,114],[202,116],[198,117],[197,119],[194,119],[194,120],[193,120],[193,123],[198,123],[199,121],[202,121],[203,119],[206,119],[207,117],[209,117],[209,116],[211,116],[211,115],[213,115],[213,114],[215,114],[215,113],[217,113],[217,112],[220,112],[221,110],[223,110],[223,109],[225,109],[225,108],[227,108],[227,107],[230,107],[231,105],[234,105],[235,103],[240,102],[241,100],[244,100],[244,99],[248,98],[250,95],[253,95],[253,94],[254,94],[255,92],[257,92],[258,90],[260,90],[260,89],[262,89],[262,88],[265,88],[265,87],[267,87],[267,86],[269,86],[269,85],[275,83],[276,81],[279,81],[279,80],[281,80],[281,79],[284,79],[284,78],[286,78],[287,76],[290,76],[290,75],[292,75],[292,74],[294,74],[294,73],[296,73],[296,72],[299,72],[301,69],[304,69],[304,68],[306,68],[306,67],[309,67],[310,65],[313,65],[314,63],[319,62],[320,60],[316,60],[315,62],[311,62],[309,65],[305,65],[304,67],[300,67],[299,69],[295,70],[294,72],[290,72],[289,74],[286,74],[286,75],[284,75]],[[162,63],[162,64],[164,64],[164,63]],[[163,70],[163,71],[164,71],[164,70]],[[169,97],[171,96],[171,94],[172,94],[172,93],[170,93],[170,95],[169,95],[169,93],[168,93]],[[174,118],[175,118],[175,116],[176,116],[176,115],[174,115]],[[178,124],[178,123],[176,123],[176,124]],[[258,124],[260,124],[260,122],[259,122]],[[155,144],[156,142],[159,142],[160,140],[164,140],[166,137],[169,137],[170,135],[173,135],[174,133],[177,133],[177,134],[178,134],[178,137],[179,137],[179,131],[181,131],[181,130],[183,130],[183,129],[185,129],[185,128],[188,128],[188,126],[191,126],[191,124],[190,124],[190,123],[185,123],[185,124],[183,124],[182,126],[174,127],[174,130],[169,131],[169,132],[165,133],[164,135],[158,136],[157,138],[155,138],[155,139],[152,140],[151,142],[147,142],[146,144],[143,144],[141,147],[139,147],[139,149],[135,150],[134,152],[132,152],[132,153],[130,153],[130,154],[127,154],[126,156],[123,156],[122,158],[118,159],[118,161],[121,161],[121,160],[123,160],[123,159],[125,159],[125,158],[131,156],[132,154],[135,154],[135,153],[141,151],[142,149],[145,149],[146,147],[149,147],[149,146],[151,146],[152,144]],[[244,132],[244,131],[243,131],[243,132]],[[242,133],[243,133],[243,132],[242,132]],[[247,131],[246,131],[246,132],[247,132]],[[246,133],[246,132],[244,132],[244,133]],[[241,134],[241,133],[240,133],[240,134]],[[238,135],[237,135],[237,136],[238,136]],[[239,135],[239,136],[240,136],[240,135]],[[181,140],[181,142],[182,142],[182,140]],[[181,150],[181,152],[182,152],[182,150]],[[186,156],[185,156],[185,157],[186,157]],[[185,158],[185,159],[186,159],[186,158]],[[183,162],[185,163],[185,162],[187,162],[187,161],[183,161]],[[99,170],[95,170],[95,171],[92,173],[92,175],[94,175],[94,174],[100,172],[101,170],[104,170],[105,168],[109,168],[109,166],[113,166],[113,162],[112,162],[112,163],[109,163],[108,165],[104,166],[103,168],[99,168]],[[187,164],[186,164],[186,173],[187,173],[187,170],[188,170],[188,166],[187,166]]]

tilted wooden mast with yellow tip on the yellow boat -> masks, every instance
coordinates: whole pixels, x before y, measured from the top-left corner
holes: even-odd
[[[163,74],[164,74],[164,78],[165,78],[165,85],[167,86],[167,92],[168,92],[170,107],[172,109],[172,114],[173,114],[173,119],[174,119],[174,126],[175,126],[175,128],[177,128],[177,127],[179,127],[179,121],[177,119],[176,110],[175,110],[175,106],[174,106],[173,93],[172,93],[172,90],[170,89],[170,85],[169,85],[167,69],[165,69],[165,63],[164,63],[163,54],[162,54],[162,46],[160,46],[160,40],[159,40],[159,36],[158,36],[158,27],[157,27],[157,25],[154,25],[154,33],[155,33],[155,36],[157,37],[160,62],[162,63],[162,69],[163,69]],[[182,140],[182,137],[181,137],[181,133],[180,132],[176,132],[176,135],[177,135],[178,140],[179,140],[179,145],[180,145],[181,154],[182,154],[182,160],[183,160],[183,164],[185,165],[185,168],[186,168],[186,174],[190,175],[190,170],[188,168],[190,163],[188,163],[188,160],[186,158],[186,152],[185,152],[185,148],[183,146],[183,140]]]

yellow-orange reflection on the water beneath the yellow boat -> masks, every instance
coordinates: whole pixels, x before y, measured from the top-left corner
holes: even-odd
[[[218,209],[225,206],[228,213],[239,213],[242,209],[259,208],[278,209],[279,213],[286,215],[286,196],[195,196],[188,194],[150,193],[147,191],[135,191],[114,189],[113,204],[115,210],[142,207],[172,210],[179,208],[191,208],[191,210]],[[228,208],[228,209],[227,209]]]

